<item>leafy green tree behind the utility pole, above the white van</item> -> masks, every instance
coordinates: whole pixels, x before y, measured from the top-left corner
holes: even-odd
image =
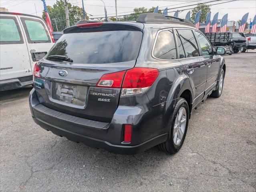
[[[52,28],[54,31],[62,31],[66,28],[66,14],[65,14],[65,3],[64,0],[57,0],[53,6],[47,6],[48,13],[52,22]],[[83,8],[79,6],[73,6],[68,3],[69,10],[69,22],[70,26],[75,25],[79,20],[83,20]],[[85,13],[86,18],[88,19],[87,13]],[[42,18],[45,20],[45,13],[42,12]]]

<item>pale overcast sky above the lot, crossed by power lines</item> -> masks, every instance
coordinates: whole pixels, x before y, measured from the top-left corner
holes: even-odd
[[[108,17],[115,16],[115,0],[103,0],[107,9]],[[168,10],[168,15],[173,16],[174,12],[179,6],[187,6],[191,4],[208,2],[210,0],[117,0],[117,15],[130,14],[133,8],[145,7],[151,8],[152,6],[159,6],[159,9],[165,7],[173,8]],[[221,0],[219,2],[211,2],[209,4],[216,4],[225,2],[223,4],[212,5],[211,12],[212,18],[216,12],[219,12],[219,19],[228,13],[228,20],[240,20],[244,14],[249,12],[248,22],[253,20],[256,14],[256,0],[237,0],[228,2],[229,0]],[[45,0],[46,5],[52,6],[56,0]],[[73,5],[82,7],[82,0],[69,0]],[[104,14],[104,4],[100,0],[84,0],[85,11],[93,17],[101,17]],[[26,14],[33,14],[42,16],[43,4],[41,0],[0,0],[0,7],[8,8],[10,12],[20,12]],[[195,6],[184,7],[179,9],[193,8]],[[185,18],[189,10],[184,10],[179,13],[180,18]],[[37,12],[37,13],[36,13]],[[126,12],[126,13],[123,13]],[[211,19],[212,19],[211,18]]]

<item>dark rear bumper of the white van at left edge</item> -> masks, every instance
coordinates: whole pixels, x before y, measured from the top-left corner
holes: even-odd
[[[0,81],[0,91],[22,88],[33,84],[33,76],[25,76]]]

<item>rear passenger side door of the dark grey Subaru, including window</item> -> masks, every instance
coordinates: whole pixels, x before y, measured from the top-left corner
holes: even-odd
[[[200,56],[200,51],[193,31],[190,29],[177,29],[177,40],[181,41],[185,57],[180,59],[189,82],[193,90],[193,106],[196,106],[204,97],[206,86],[207,69],[204,57]]]

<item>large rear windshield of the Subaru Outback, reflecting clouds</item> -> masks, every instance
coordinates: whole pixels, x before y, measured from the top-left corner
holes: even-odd
[[[62,35],[47,55],[71,58],[77,64],[104,64],[135,60],[141,31],[101,31]],[[58,60],[59,61],[59,60]]]

